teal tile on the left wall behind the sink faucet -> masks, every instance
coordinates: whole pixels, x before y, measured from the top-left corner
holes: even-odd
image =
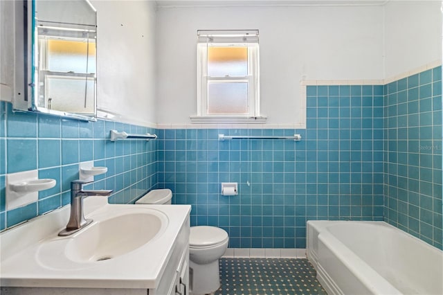
[[[98,120],[83,122],[12,111],[0,101],[0,230],[69,204],[70,182],[78,179],[79,163],[106,166],[88,188],[112,189],[110,203],[134,202],[157,184],[156,141],[109,141],[109,130],[156,133],[156,129]],[[39,178],[56,179],[39,192],[38,202],[6,211],[6,174],[38,170]]]

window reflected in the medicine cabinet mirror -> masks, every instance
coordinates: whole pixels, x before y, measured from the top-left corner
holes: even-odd
[[[38,27],[39,107],[76,114],[96,109],[96,33]]]

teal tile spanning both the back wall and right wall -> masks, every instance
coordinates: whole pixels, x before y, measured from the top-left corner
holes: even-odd
[[[442,249],[441,66],[387,85],[307,87],[307,129],[159,130],[159,186],[230,247],[305,247],[307,220],[386,220]],[[217,141],[217,134],[302,141]],[[220,183],[239,183],[221,196]]]

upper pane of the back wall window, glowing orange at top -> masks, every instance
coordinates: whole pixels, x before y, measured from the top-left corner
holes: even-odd
[[[248,75],[248,48],[209,46],[208,75],[211,77]]]

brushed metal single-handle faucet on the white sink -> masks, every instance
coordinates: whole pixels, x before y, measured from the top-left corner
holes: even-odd
[[[84,190],[84,184],[91,184],[92,181],[74,180],[71,181],[71,216],[69,222],[66,225],[66,229],[60,231],[58,235],[66,236],[72,235],[83,229],[88,224],[91,224],[93,220],[87,220],[84,218],[83,213],[83,198],[88,196],[109,196],[112,190]]]

